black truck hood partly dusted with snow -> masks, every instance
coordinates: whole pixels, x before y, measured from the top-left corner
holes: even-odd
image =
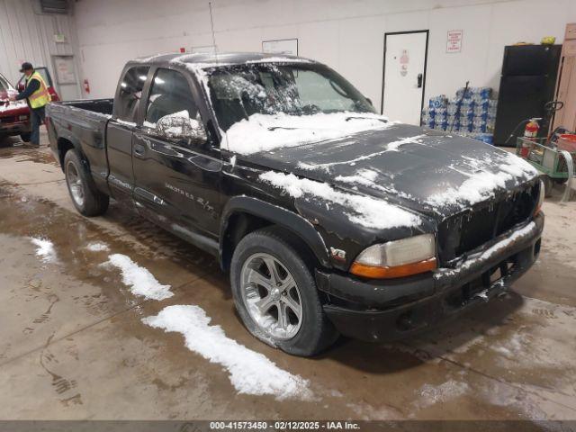
[[[293,173],[442,216],[517,190],[537,175],[508,151],[406,124],[275,148],[242,159],[265,170]]]

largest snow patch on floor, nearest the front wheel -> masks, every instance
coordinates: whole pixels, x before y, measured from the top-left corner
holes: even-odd
[[[211,318],[199,306],[168,306],[142,321],[156,329],[182,333],[188,349],[228,371],[238,393],[271,394],[280,400],[311,398],[308,380],[280,369],[266,356],[228,338],[220,326],[210,325]]]

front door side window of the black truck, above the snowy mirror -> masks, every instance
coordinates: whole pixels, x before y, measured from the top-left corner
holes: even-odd
[[[190,85],[180,72],[158,69],[146,107],[147,125],[152,127],[165,115],[176,112],[187,112],[191,119],[196,118],[198,108],[194,103]]]

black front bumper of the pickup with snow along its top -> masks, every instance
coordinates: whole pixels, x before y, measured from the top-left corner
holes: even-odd
[[[345,336],[404,338],[505,292],[536,261],[543,229],[540,213],[524,227],[474,250],[455,268],[424,275],[362,282],[317,271],[317,285],[332,301],[324,311]]]

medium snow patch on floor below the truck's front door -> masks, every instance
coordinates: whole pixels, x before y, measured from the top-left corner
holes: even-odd
[[[170,292],[170,285],[160,284],[148,269],[138,266],[130,257],[121,254],[112,254],[102,266],[114,266],[121,270],[122,283],[130,286],[131,293],[141,295],[147,300],[164,300],[174,293]]]

